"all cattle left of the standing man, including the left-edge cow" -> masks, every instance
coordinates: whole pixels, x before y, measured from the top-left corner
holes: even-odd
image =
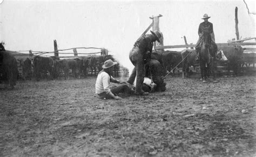
[[[11,51],[8,50],[1,51],[0,57],[2,58],[0,59],[0,80],[5,84],[10,84],[12,88],[18,78],[31,80],[35,77],[37,81],[45,78],[58,79],[60,77],[69,79],[70,73],[73,78],[86,78],[88,75],[87,69],[91,70],[91,76],[93,74],[96,76],[97,71],[102,70],[105,60],[111,59],[117,62],[112,55],[95,55],[68,59],[60,59],[56,56],[35,56],[26,59],[16,59],[11,54]],[[21,66],[21,72],[18,71],[18,64]],[[118,77],[119,70],[123,70],[123,76],[127,77],[128,69],[119,63],[114,66],[113,76]]]

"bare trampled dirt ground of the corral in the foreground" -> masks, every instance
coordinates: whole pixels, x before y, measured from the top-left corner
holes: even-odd
[[[96,77],[19,81],[0,90],[0,156],[255,156],[255,76],[218,80],[122,100],[98,99]]]

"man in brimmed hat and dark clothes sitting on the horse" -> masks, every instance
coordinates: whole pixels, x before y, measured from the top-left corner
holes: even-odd
[[[199,39],[196,44],[196,53],[197,53],[196,60],[199,60],[200,43],[202,41],[202,37],[203,37],[205,31],[207,31],[211,35],[212,43],[215,44],[213,25],[212,25],[212,23],[208,22],[208,18],[210,18],[210,16],[208,16],[205,13],[204,17],[202,18],[202,19],[204,19],[204,22],[200,23],[199,28],[198,28]]]

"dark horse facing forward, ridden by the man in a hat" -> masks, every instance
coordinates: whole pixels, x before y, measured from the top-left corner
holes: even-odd
[[[204,32],[201,49],[199,53],[199,64],[201,69],[201,79],[205,83],[207,80],[208,72],[211,72],[213,75],[214,83],[215,80],[215,70],[216,70],[216,53],[217,53],[217,45],[212,42],[211,35],[207,31]]]

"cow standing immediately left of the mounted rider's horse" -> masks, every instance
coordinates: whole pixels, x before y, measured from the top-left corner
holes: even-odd
[[[189,67],[193,66],[195,68],[196,66],[199,66],[199,62],[196,61],[197,53],[193,49],[185,49],[181,51],[181,57],[183,59],[183,74],[185,74],[186,77],[190,77]]]

